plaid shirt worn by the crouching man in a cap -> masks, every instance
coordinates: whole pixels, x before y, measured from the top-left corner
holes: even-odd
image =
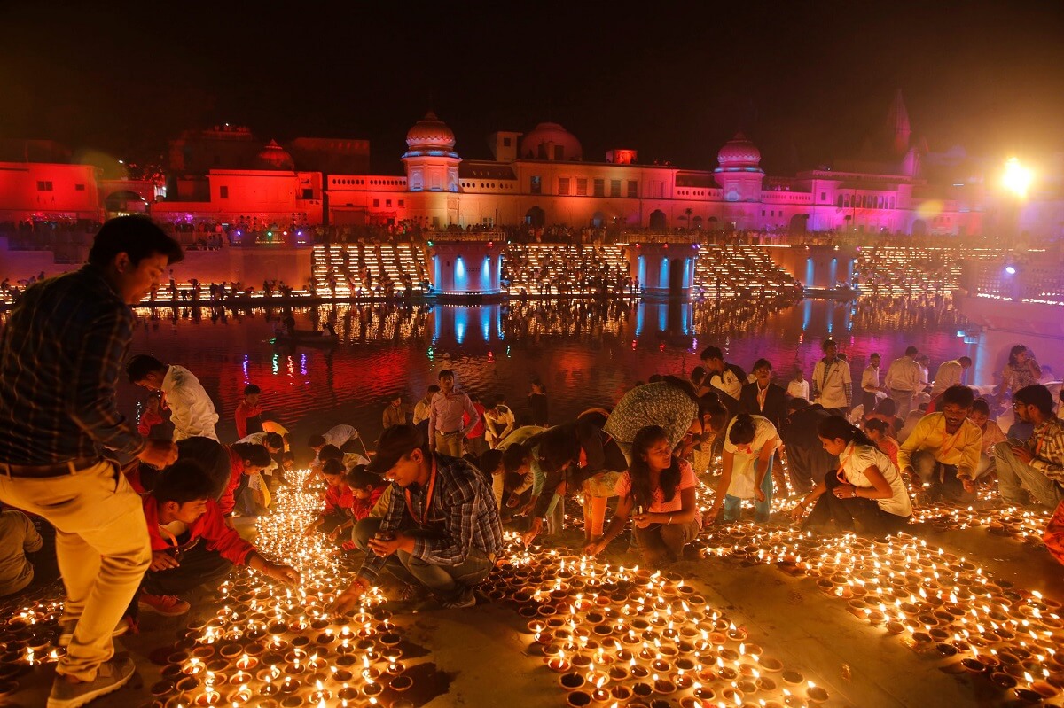
[[[412,519],[427,517],[419,529],[428,534],[414,539],[411,555],[433,566],[459,566],[465,562],[473,546],[487,556],[500,553],[502,524],[499,507],[484,475],[464,459],[435,453],[433,457],[436,461],[436,484],[432,498],[428,500],[428,513],[425,508],[429,491],[427,486],[412,484],[408,487],[413,506],[408,510],[402,487],[393,483],[380,530],[403,530],[404,525],[410,523],[409,520],[404,523],[404,515]],[[385,560],[376,554],[366,554],[359,577],[373,585]]]

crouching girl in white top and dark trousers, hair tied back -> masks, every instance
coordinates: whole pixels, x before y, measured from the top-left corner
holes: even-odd
[[[816,433],[824,449],[838,455],[839,465],[795,507],[797,521],[815,503],[802,528],[828,526],[832,521],[839,530],[853,530],[855,521],[871,536],[903,528],[913,506],[891,458],[861,429],[837,416],[820,421]]]

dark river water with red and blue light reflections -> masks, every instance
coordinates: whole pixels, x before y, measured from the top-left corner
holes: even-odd
[[[539,377],[547,384],[551,420],[560,422],[591,406],[612,405],[653,373],[689,374],[710,344],[747,370],[768,358],[784,385],[796,363],[810,374],[829,333],[850,356],[857,381],[872,352],[890,360],[915,344],[935,365],[976,354],[957,336],[959,316],[934,300],[332,304],[297,308],[294,316],[301,330],[332,323],[340,342],[294,350],[268,341],[280,309],[138,314],[131,352],[152,353],[196,373],[219,408],[223,441],[234,438],[233,410],[253,382],[263,389],[266,410],[293,428],[300,448],[310,433],[340,422],[376,439],[387,400],[403,391],[416,402],[440,369],[454,370],[459,384],[482,398],[504,393],[519,417],[527,412],[530,381]],[[123,383],[119,398],[132,414],[144,391]]]

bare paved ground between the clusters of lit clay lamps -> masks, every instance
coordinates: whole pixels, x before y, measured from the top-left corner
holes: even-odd
[[[242,520],[240,526],[242,533],[254,536],[254,527],[248,520]],[[745,529],[739,527],[736,534],[742,536]],[[1012,591],[1037,590],[1048,601],[1064,601],[1064,569],[1043,549],[991,534],[985,527],[951,530],[928,524],[914,530],[929,547],[941,547],[946,554],[966,558],[981,567],[991,578],[1005,581],[1003,587],[1011,584]],[[947,657],[935,651],[934,644],[913,641],[910,633],[891,635],[883,625],[872,626],[854,617],[847,611],[846,600],[829,596],[814,578],[796,575],[794,567],[766,564],[753,555],[742,558],[712,555],[714,549],[719,550],[721,545],[720,538],[705,534],[703,537],[702,544],[710,546],[710,555],[684,560],[671,571],[705,599],[704,608],[725,613],[747,634],[742,642],[730,641],[728,646],[738,650],[738,644],[758,645],[762,656],[778,659],[784,670],[800,673],[803,681],[797,686],[785,684],[781,680],[784,674],[763,671],[763,676],[775,677],[776,690],[754,693],[748,696],[746,705],[779,705],[772,701],[783,702],[782,689],[787,687],[797,696],[792,698],[793,705],[804,705],[798,697],[804,698],[809,690],[804,681],[809,680],[827,691],[829,697],[824,705],[828,707],[1004,706],[1017,703],[1012,692],[997,688],[985,674],[966,672],[959,662],[968,654],[962,652]],[[579,539],[570,536],[562,540],[576,544]],[[615,547],[622,546],[624,543],[618,542]],[[772,546],[769,541],[760,542],[760,547],[766,551]],[[629,566],[634,562],[622,553],[612,559],[621,563],[628,559]],[[550,587],[551,581],[556,583],[556,579],[544,580],[548,585],[543,587]],[[535,587],[530,581],[529,589]],[[518,613],[518,605],[513,602],[513,588],[503,594],[505,599],[482,601],[478,607],[466,610],[410,613],[409,608],[396,606],[390,621],[398,625],[401,660],[406,665],[406,674],[414,679],[414,688],[402,694],[386,690],[380,696],[380,704],[431,708],[564,706],[567,694],[559,686],[559,674],[545,665],[542,645],[534,641],[528,630],[528,618]],[[38,589],[33,597],[9,603],[0,620],[16,617],[19,607],[43,607],[40,599],[47,595],[48,588]],[[135,658],[137,677],[130,687],[94,705],[149,706],[153,702],[163,705],[168,699],[169,705],[178,705],[177,694],[172,692],[153,698],[152,687],[164,680],[162,674],[167,671],[167,657],[174,652],[174,642],[184,636],[189,623],[211,619],[221,607],[206,589],[197,592],[192,600],[193,617],[145,616],[138,635],[118,640]],[[678,627],[681,625],[682,622],[678,623]],[[47,626],[46,623],[46,629]],[[46,661],[30,668],[24,662],[27,646],[34,644],[33,637],[47,631],[23,629],[19,633],[16,628],[9,622],[4,635],[7,651],[0,657],[3,660],[0,672],[16,674],[14,680],[18,686],[11,695],[0,697],[0,705],[43,706],[53,675],[52,664]],[[202,630],[198,636],[202,636]],[[292,635],[286,633],[284,636]],[[376,639],[380,642],[381,636],[378,634]],[[378,643],[378,648],[380,646]],[[38,651],[36,657],[40,656]],[[336,656],[334,653],[330,662]],[[1031,665],[1037,661],[1032,661]],[[181,664],[169,665],[169,671],[173,671]],[[726,681],[718,680],[716,685],[718,693],[727,688]],[[226,695],[229,689],[219,689],[219,693]],[[655,694],[654,697],[664,703],[654,705],[680,705],[681,695],[689,695],[689,691]],[[758,699],[766,703],[757,703]],[[397,703],[399,701],[409,703]],[[1052,703],[1061,705],[1060,697]],[[256,695],[251,705],[272,704]],[[289,701],[281,705],[294,706],[295,699],[289,696]],[[303,691],[302,705],[312,705],[307,691]],[[333,699],[327,705],[339,703]],[[362,703],[352,701],[350,705]],[[717,703],[705,705],[716,706]],[[743,705],[743,702],[730,699],[722,705]]]

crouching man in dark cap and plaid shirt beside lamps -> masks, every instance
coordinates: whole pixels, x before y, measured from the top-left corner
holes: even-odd
[[[392,482],[388,506],[383,519],[354,527],[366,559],[335,609],[353,608],[385,568],[446,608],[476,605],[473,586],[502,551],[499,507],[484,475],[464,459],[433,453],[413,425],[384,431],[369,469]]]

